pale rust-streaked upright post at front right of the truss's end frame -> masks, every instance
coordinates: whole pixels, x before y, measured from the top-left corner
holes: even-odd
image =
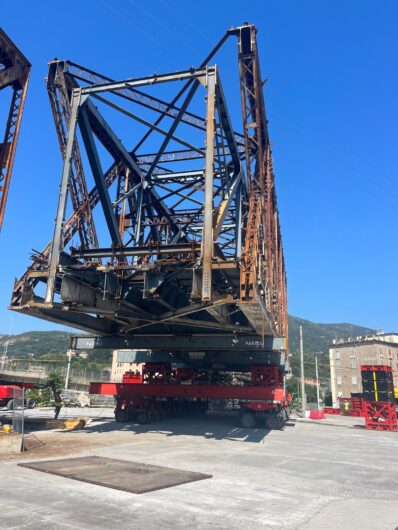
[[[214,177],[214,133],[215,97],[217,70],[208,70],[206,113],[206,165],[205,204],[202,237],[202,300],[211,300],[211,264],[214,252],[213,241],[213,177]]]

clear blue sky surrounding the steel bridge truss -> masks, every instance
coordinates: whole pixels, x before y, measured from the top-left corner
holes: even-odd
[[[10,317],[13,333],[55,329],[7,310],[30,250],[53,230],[62,168],[47,62],[116,79],[185,69],[244,21],[258,27],[268,79],[289,312],[398,331],[397,2],[1,0],[1,12],[33,68],[0,233],[0,332]],[[227,100],[235,45],[217,58]]]

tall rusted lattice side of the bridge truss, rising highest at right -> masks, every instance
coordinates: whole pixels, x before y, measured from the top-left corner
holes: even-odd
[[[263,303],[272,331],[283,334],[287,331],[286,278],[256,32],[252,25],[235,30],[249,193],[241,296],[247,302]]]

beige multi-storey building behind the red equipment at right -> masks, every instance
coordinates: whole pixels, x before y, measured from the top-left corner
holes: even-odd
[[[365,337],[335,339],[329,348],[333,406],[339,397],[362,392],[361,365],[387,364],[398,386],[398,333],[377,333]]]

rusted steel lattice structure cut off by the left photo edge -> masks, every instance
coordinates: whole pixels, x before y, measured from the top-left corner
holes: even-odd
[[[10,92],[10,103],[0,143],[0,230],[11,182],[22,112],[28,89],[30,63],[0,28],[0,91]]]

